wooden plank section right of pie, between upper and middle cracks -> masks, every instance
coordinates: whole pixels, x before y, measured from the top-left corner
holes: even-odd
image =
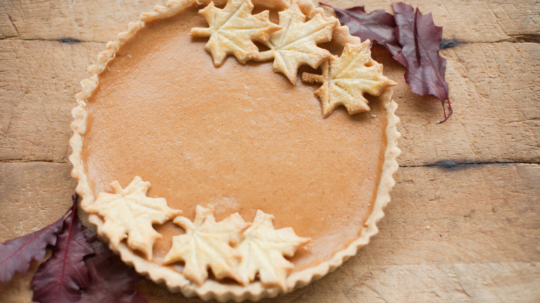
[[[540,44],[466,44],[447,57],[453,116],[444,125],[440,101],[411,93],[405,68],[381,47],[374,57],[396,80],[400,165],[525,162],[540,160]]]

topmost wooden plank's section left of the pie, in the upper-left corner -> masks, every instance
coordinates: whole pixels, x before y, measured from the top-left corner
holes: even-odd
[[[165,2],[163,0],[2,1],[0,39],[72,38],[89,42],[108,42],[116,39],[117,33],[127,30],[127,24],[136,21],[141,12],[152,10],[156,4]],[[10,20],[11,22],[8,22]]]

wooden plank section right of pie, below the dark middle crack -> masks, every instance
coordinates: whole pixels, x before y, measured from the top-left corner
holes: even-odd
[[[401,168],[363,266],[540,261],[540,165]]]

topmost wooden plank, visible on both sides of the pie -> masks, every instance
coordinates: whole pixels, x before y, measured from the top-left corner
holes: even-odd
[[[366,5],[368,11],[391,11],[390,0],[325,1],[339,8]],[[137,1],[33,1],[0,3],[0,39],[62,39],[108,42],[125,31],[138,14],[152,10],[164,0]],[[422,13],[432,12],[435,24],[443,26],[444,39],[462,42],[494,42],[505,39],[539,39],[540,16],[534,1],[440,0],[408,1]]]

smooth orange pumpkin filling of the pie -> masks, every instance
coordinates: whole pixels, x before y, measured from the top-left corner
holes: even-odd
[[[82,146],[93,196],[141,176],[152,184],[147,196],[191,221],[197,205],[213,205],[217,221],[239,212],[251,222],[262,210],[276,229],[311,238],[289,258],[294,271],[329,260],[359,238],[372,211],[385,104],[369,97],[369,112],[340,107],[323,118],[318,84],[291,84],[271,62],[229,56],[215,67],[208,39],[189,35],[208,26],[198,9],[147,23],[100,73]],[[163,238],[151,261],[161,264],[184,231],[172,221],[154,228]]]

